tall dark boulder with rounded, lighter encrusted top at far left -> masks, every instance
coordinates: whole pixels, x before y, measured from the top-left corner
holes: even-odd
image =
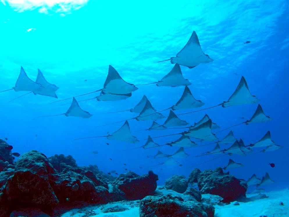
[[[27,152],[17,160],[15,174],[7,180],[8,200],[42,209],[53,208],[58,199],[49,183],[55,170],[45,155],[38,151]]]

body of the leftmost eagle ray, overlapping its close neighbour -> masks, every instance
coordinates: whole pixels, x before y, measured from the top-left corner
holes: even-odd
[[[30,78],[28,78],[26,72],[21,67],[20,74],[19,74],[18,79],[15,83],[15,87],[13,87],[13,89],[16,92],[18,92],[18,91],[38,92],[39,90],[41,90],[43,88],[44,87],[42,87],[40,84],[35,83]]]

